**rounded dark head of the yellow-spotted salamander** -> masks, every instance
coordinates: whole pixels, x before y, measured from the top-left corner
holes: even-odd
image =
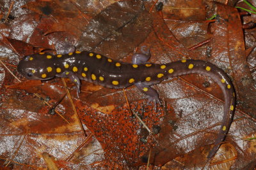
[[[54,78],[56,69],[52,60],[40,55],[29,55],[20,60],[17,69],[22,76],[31,80],[49,80]]]

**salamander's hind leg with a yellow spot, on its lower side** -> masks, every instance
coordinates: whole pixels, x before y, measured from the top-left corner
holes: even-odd
[[[147,98],[148,98],[147,104],[152,102],[154,104],[154,110],[157,111],[157,103],[161,104],[157,91],[148,85],[144,85],[143,83],[135,83],[134,85],[136,85],[136,87],[141,92],[143,92],[143,94],[147,95]]]

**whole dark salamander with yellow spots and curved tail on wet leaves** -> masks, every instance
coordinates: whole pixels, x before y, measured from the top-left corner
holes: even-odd
[[[24,57],[20,60],[17,69],[28,79],[49,80],[54,76],[70,78],[76,84],[77,94],[80,92],[80,80],[114,89],[135,85],[138,90],[147,95],[148,103],[153,102],[155,107],[160,101],[156,90],[150,85],[160,83],[166,78],[185,74],[196,73],[209,76],[220,85],[225,98],[223,122],[214,148],[208,155],[208,158],[212,158],[227,136],[235,110],[234,86],[227,74],[204,60],[189,59],[153,64],[148,62],[149,50],[145,52],[141,48],[141,52],[134,53],[131,64],[109,59],[94,52],[76,51],[64,55],[41,52]]]

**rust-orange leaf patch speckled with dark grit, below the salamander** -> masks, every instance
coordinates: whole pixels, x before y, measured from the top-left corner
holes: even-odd
[[[76,106],[81,121],[86,124],[86,127],[100,142],[104,149],[104,155],[114,162],[121,161],[120,155],[123,155],[122,157],[128,164],[141,162],[141,157],[148,151],[145,148],[150,148],[155,143],[154,139],[150,137],[147,138],[147,143],[141,143],[143,134],[138,132],[141,129],[145,134],[148,134],[148,132],[145,132],[138,119],[132,116],[127,104],[122,106],[100,106],[98,103],[92,103],[88,107],[82,101],[77,101]],[[148,113],[142,111],[145,107],[148,108]],[[144,115],[142,119],[147,122],[150,129],[154,125],[160,124],[161,118],[163,118],[162,111],[155,113],[152,106],[145,106],[143,100],[131,104],[131,108],[136,108],[138,114]],[[157,136],[154,135],[154,138],[157,138]]]

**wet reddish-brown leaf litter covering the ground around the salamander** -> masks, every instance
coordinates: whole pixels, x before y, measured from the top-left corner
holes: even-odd
[[[60,78],[22,78],[18,83],[1,64],[1,166],[46,168],[46,161],[64,169],[147,169],[148,159],[152,169],[255,166],[255,63],[253,56],[246,61],[241,19],[235,8],[200,0],[164,2],[158,12],[152,3],[142,1],[33,1],[20,5],[26,7],[23,15],[0,26],[3,63],[17,78],[22,76],[13,65],[23,55],[41,50],[67,53],[69,46],[76,46],[131,62],[135,49],[140,52],[146,45],[150,62],[190,58],[216,64],[232,79],[238,102],[225,143],[208,160],[224,101],[211,78],[192,74],[153,85],[163,104],[156,112],[134,86],[116,90],[83,81],[77,97],[68,80],[67,87]],[[13,6],[17,9],[18,3]],[[210,24],[205,18],[214,14],[215,7],[216,20]],[[210,43],[202,43],[206,39]],[[189,50],[200,43],[193,52]],[[253,55],[253,43],[250,52]],[[125,96],[151,133],[129,110]]]

